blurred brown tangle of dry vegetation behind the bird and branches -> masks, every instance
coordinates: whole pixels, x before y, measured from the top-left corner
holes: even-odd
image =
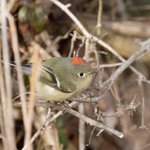
[[[61,2],[69,4],[71,12],[92,35],[105,41],[125,59],[141,48],[140,42],[150,37],[149,0],[61,0]],[[7,8],[8,12],[5,12],[4,8]],[[93,68],[97,65],[120,62],[96,42],[90,43],[89,54],[85,37],[78,26],[50,0],[1,0],[0,13],[0,59],[3,61],[30,63],[34,61],[33,56],[36,53],[41,60],[68,56],[73,46],[73,50],[78,51],[79,56],[86,56],[86,60]],[[7,16],[6,20],[4,15]],[[3,29],[4,27],[6,29]],[[15,40],[18,41],[18,45]],[[27,118],[23,112],[28,109],[23,110],[14,104],[16,101],[20,102],[18,95],[21,80],[18,80],[16,72],[11,67],[7,72],[7,65],[0,63],[0,149],[10,149],[8,146],[10,143],[13,149],[19,150],[24,146],[27,133],[24,128]],[[149,80],[149,64],[150,54],[147,53],[135,61],[133,66]],[[115,70],[116,67],[101,70],[95,82],[105,81]],[[7,83],[7,79],[11,81],[11,86]],[[29,91],[30,82],[26,77],[23,79],[25,89]],[[94,91],[93,85],[88,92],[98,94],[100,91]],[[86,116],[95,120],[99,118],[100,122],[124,134],[122,139],[105,131],[99,134],[99,129],[85,124],[84,137],[87,145],[85,149],[150,150],[149,90],[149,83],[142,82],[137,74],[127,69],[97,103],[84,103]],[[25,96],[25,99],[28,100],[28,96]],[[145,104],[144,107],[142,104]],[[44,124],[47,112],[47,109],[41,107],[34,107],[33,110],[32,131],[30,131],[32,135]],[[31,149],[81,150],[79,132],[79,119],[64,113],[35,139]]]

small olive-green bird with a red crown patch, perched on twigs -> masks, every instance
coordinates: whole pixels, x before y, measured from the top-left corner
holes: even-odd
[[[31,74],[31,65],[23,65],[22,69]],[[67,100],[87,89],[91,82],[92,68],[83,58],[53,57],[42,62],[36,92],[44,100]]]

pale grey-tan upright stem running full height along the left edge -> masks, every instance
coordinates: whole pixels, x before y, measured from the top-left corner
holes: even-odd
[[[2,29],[2,49],[3,49],[3,60],[4,62],[9,62],[9,47],[8,47],[8,37],[7,37],[7,7],[6,0],[1,0],[1,29]],[[5,121],[5,132],[7,139],[8,150],[15,147],[15,134],[14,134],[14,120],[13,120],[13,107],[12,107],[12,85],[11,85],[11,74],[10,65],[8,63],[4,64],[4,77],[5,77],[5,88],[1,87],[5,92],[3,94],[3,109],[4,121]],[[3,79],[2,79],[3,80]],[[1,91],[2,92],[2,91]],[[2,93],[1,93],[2,94]],[[4,102],[5,101],[5,102]]]

